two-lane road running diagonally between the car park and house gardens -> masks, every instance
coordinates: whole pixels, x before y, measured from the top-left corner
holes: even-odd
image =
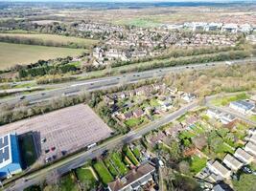
[[[62,175],[69,172],[72,169],[80,167],[88,159],[94,159],[104,153],[105,150],[113,149],[115,147],[120,147],[121,145],[128,143],[134,139],[141,138],[148,132],[163,126],[170,121],[175,120],[175,118],[182,116],[187,111],[193,110],[198,107],[198,101],[187,104],[186,106],[180,108],[172,114],[162,117],[158,120],[151,122],[150,124],[129,132],[127,135],[120,136],[117,138],[105,141],[103,144],[92,148],[89,151],[81,152],[80,154],[69,157],[68,159],[60,160],[48,167],[36,171],[35,173],[25,176],[19,180],[16,180],[14,184],[10,187],[5,188],[5,190],[23,190],[24,188],[40,182],[44,179],[52,179],[54,175]]]

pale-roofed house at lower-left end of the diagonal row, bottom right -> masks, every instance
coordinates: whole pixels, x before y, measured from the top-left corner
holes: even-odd
[[[224,167],[218,160],[208,161],[207,167],[209,170],[216,175],[221,176],[223,179],[229,179],[231,175],[231,171]]]

